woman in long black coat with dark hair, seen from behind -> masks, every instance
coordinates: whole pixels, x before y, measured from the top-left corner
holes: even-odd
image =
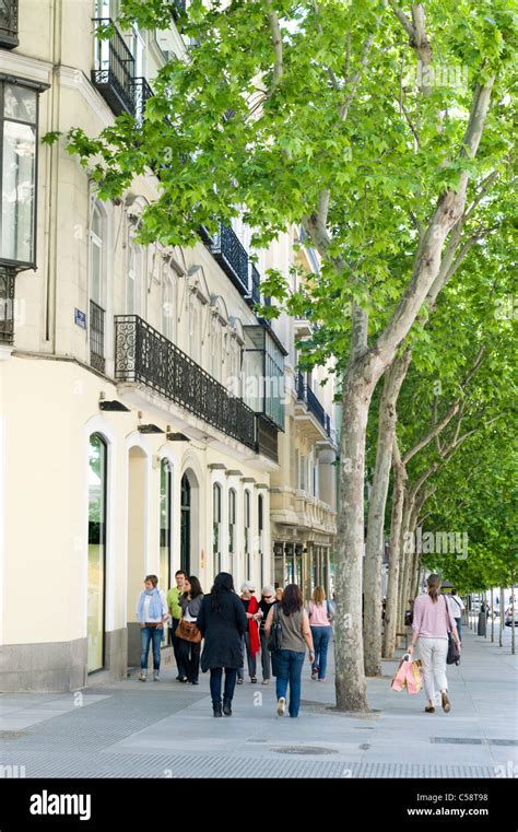
[[[221,683],[225,668],[223,713],[232,716],[232,700],[237,670],[243,665],[243,636],[248,619],[240,598],[234,591],[232,575],[220,572],[211,594],[205,595],[197,619],[198,629],[205,640],[201,654],[201,669],[211,671],[211,696],[214,716],[222,716]]]

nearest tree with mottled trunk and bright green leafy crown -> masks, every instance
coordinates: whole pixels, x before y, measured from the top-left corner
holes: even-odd
[[[337,704],[362,711],[370,400],[440,273],[469,190],[508,153],[511,4],[431,0],[426,19],[422,4],[409,16],[386,0],[209,5],[192,0],[180,16],[193,46],[158,72],[142,126],[121,116],[96,139],[76,128],[69,150],[101,198],[156,173],[143,242],[192,242],[201,225],[214,232],[243,211],[255,244],[302,223],[320,253],[316,353],[337,358],[343,414]],[[122,12],[121,25],[165,27],[170,3],[122,0]],[[272,274],[264,292],[282,296],[279,282]]]

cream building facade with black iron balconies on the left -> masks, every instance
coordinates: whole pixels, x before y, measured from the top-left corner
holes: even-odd
[[[299,323],[274,331],[254,313],[261,272],[294,257],[287,235],[256,265],[240,221],[192,248],[142,247],[151,172],[103,203],[62,143],[39,143],[142,118],[185,50],[173,17],[99,45],[92,20],[116,16],[108,0],[0,4],[1,690],[123,676],[146,573],[164,589],[177,569],[205,591],[221,570],[259,588],[290,576],[272,534],[310,544],[310,569],[333,531],[335,446],[296,397]]]

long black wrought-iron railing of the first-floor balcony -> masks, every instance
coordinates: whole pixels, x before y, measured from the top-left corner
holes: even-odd
[[[254,411],[138,315],[115,317],[115,378],[151,387],[257,450]]]

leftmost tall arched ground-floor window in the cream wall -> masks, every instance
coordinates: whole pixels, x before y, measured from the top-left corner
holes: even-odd
[[[104,667],[107,446],[94,433],[89,447],[89,672]]]

